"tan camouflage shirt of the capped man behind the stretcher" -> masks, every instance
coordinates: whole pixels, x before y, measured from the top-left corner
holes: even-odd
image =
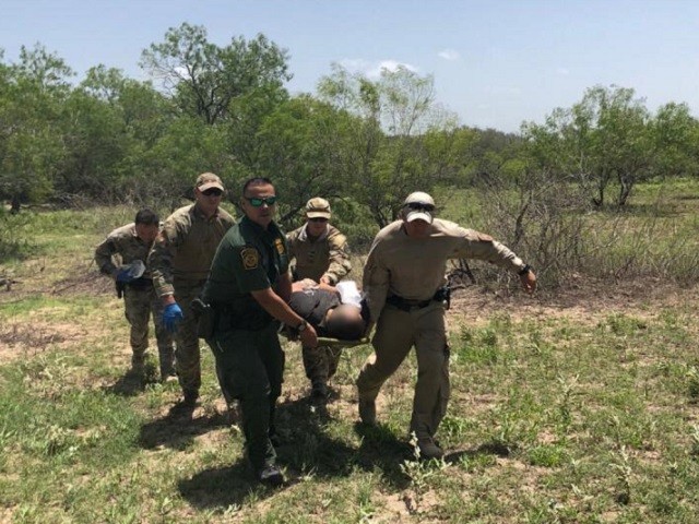
[[[336,284],[352,271],[347,238],[334,226],[317,239],[306,233],[306,225],[286,235],[289,258],[296,259],[297,281],[312,278],[316,282],[325,276],[331,285]]]

